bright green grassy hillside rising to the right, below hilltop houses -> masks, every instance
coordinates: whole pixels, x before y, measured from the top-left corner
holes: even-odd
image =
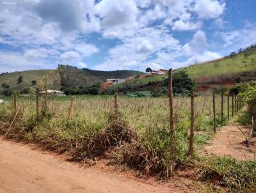
[[[225,58],[173,70],[174,73],[179,71],[188,73],[189,77],[194,80],[209,77],[218,79],[228,76],[234,82],[252,81],[256,79],[256,47],[249,47],[239,53],[233,52]],[[134,79],[111,86],[105,93],[152,90],[152,85],[155,87],[153,89],[157,90],[156,87],[163,85],[161,82],[166,78],[167,75],[152,75],[143,79]]]

